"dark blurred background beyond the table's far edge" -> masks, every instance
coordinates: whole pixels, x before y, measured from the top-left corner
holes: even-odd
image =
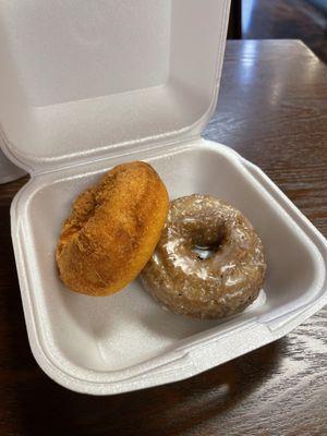
[[[327,0],[232,0],[230,39],[301,39],[327,63]]]

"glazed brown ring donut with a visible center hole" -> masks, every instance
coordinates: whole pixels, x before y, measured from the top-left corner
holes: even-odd
[[[142,271],[145,288],[178,314],[220,318],[258,295],[263,244],[234,207],[209,196],[174,199],[160,241]]]

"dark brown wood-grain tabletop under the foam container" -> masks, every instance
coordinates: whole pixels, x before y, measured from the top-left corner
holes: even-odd
[[[299,41],[229,41],[205,135],[261,166],[327,235],[327,68]],[[327,310],[191,379],[114,397],[51,382],[27,341],[0,186],[0,435],[327,435]]]

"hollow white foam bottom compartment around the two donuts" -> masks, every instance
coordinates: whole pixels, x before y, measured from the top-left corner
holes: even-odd
[[[133,158],[156,168],[171,198],[209,193],[235,205],[253,222],[265,245],[268,274],[258,301],[244,313],[226,320],[182,317],[162,310],[138,281],[107,298],[64,289],[55,250],[72,201],[112,165]],[[102,373],[104,382],[106,377],[107,382],[124,378],[126,372],[142,372],[154,360],[156,365],[162,359],[169,361],[171,353],[192,347],[199,338],[205,341],[214,336],[219,343],[220,337],[228,334],[232,338],[233,330],[241,331],[247,323],[275,319],[323,295],[320,252],[234,152],[198,140],[161,155],[153,150],[116,160],[88,165],[87,172],[82,166],[36,177],[13,206],[14,226],[15,216],[20,216],[23,257],[19,267],[28,278],[28,289],[23,289],[29,294],[26,317],[35,319],[36,335],[48,359],[70,376],[94,379],[97,372]],[[226,350],[225,355],[211,359],[221,362],[228,355]]]

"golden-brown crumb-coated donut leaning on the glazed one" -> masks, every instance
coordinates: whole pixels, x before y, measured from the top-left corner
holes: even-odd
[[[150,258],[169,208],[165,184],[144,162],[120,165],[74,202],[56,259],[61,280],[88,295],[112,294]]]

